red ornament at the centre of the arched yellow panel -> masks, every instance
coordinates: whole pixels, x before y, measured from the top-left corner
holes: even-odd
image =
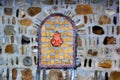
[[[56,32],[54,33],[51,42],[52,42],[52,45],[53,45],[54,47],[60,47],[60,46],[62,45],[63,40],[62,40],[61,35],[60,35],[60,33],[59,33],[58,31],[56,31]]]

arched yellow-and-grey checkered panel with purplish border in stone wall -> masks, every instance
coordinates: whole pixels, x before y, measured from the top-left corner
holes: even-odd
[[[61,13],[46,17],[38,29],[38,67],[74,68],[75,53],[74,21]]]

